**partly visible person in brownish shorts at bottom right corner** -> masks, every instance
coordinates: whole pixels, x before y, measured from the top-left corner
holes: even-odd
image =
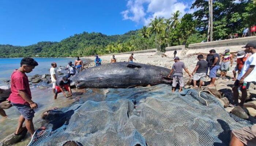
[[[256,124],[231,131],[229,146],[255,146]]]

